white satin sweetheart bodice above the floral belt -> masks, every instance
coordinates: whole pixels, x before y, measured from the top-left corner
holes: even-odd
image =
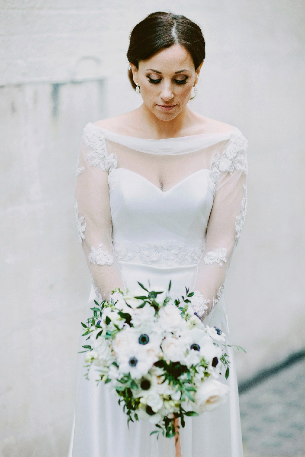
[[[203,243],[214,192],[206,169],[164,192],[142,175],[117,168],[110,192],[113,243]]]

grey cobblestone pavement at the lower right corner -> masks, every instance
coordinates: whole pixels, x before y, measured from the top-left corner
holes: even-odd
[[[305,361],[240,395],[245,457],[305,457]]]

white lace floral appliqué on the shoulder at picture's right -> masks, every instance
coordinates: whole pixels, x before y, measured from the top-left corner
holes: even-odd
[[[230,138],[227,148],[222,154],[217,154],[211,163],[210,176],[216,185],[221,173],[229,172],[232,175],[234,170],[243,170],[247,173],[245,151],[247,140],[240,131],[234,132]]]

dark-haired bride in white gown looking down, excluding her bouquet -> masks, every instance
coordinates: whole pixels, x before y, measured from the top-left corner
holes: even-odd
[[[229,330],[223,290],[246,213],[246,139],[235,127],[193,112],[205,57],[197,24],[156,12],[130,35],[128,76],[142,105],[89,122],[81,139],[75,189],[79,239],[93,300],[137,282],[194,292],[202,321]],[[84,344],[84,343],[82,343]],[[242,457],[234,358],[229,348],[226,404],[186,418],[180,440],[150,436],[129,423],[108,384],[88,381],[80,355],[70,457]]]

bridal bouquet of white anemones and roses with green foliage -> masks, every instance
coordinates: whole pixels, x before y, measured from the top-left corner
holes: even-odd
[[[86,377],[92,365],[97,383],[110,383],[129,421],[154,424],[151,432],[178,434],[175,419],[211,411],[225,402],[228,387],[217,379],[229,376],[225,335],[205,326],[192,308],[194,293],[186,288],[171,299],[161,287],[144,287],[124,295],[112,292],[91,308],[83,335]],[[170,292],[171,282],[168,292]]]

